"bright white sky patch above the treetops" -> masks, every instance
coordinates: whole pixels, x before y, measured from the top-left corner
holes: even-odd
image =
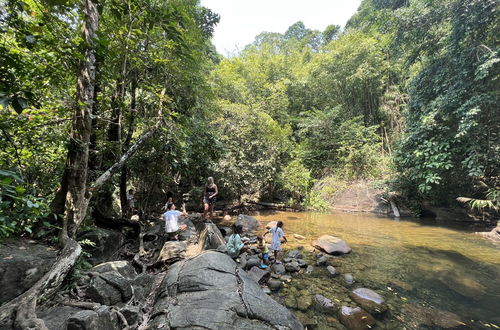
[[[330,24],[344,26],[361,0],[201,0],[201,5],[221,16],[213,43],[228,56],[242,50],[261,32],[284,33],[304,22],[323,31]]]

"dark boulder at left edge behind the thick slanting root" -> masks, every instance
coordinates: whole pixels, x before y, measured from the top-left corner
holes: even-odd
[[[29,241],[9,241],[0,249],[0,305],[22,294],[50,270],[57,251]]]

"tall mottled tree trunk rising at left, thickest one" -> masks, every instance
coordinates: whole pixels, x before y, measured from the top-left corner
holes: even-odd
[[[66,195],[61,244],[68,236],[74,237],[87,212],[87,174],[90,134],[92,131],[92,104],[95,82],[95,40],[99,26],[97,6],[84,0],[82,36],[86,44],[84,59],[80,62],[76,86],[76,111],[72,121],[68,147],[68,193]]]

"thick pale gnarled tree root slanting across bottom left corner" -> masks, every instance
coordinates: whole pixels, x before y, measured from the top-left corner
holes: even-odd
[[[44,322],[36,316],[37,301],[50,298],[56,293],[81,252],[80,244],[73,239],[68,239],[52,269],[28,291],[0,307],[0,321],[15,315],[15,329],[47,329]]]

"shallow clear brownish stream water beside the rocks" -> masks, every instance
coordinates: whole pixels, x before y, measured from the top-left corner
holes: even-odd
[[[347,289],[374,289],[391,307],[379,328],[424,329],[418,320],[425,318],[423,310],[428,308],[453,312],[469,328],[500,328],[500,246],[460,225],[349,213],[270,212],[256,218],[264,225],[272,220],[284,222],[289,238],[285,249],[304,246],[311,250],[311,242],[323,234],[345,240],[353,252],[338,258],[335,266],[341,274],[353,274],[356,283]],[[293,234],[306,239],[297,240]],[[353,305],[346,292],[338,293],[342,287],[325,289],[329,282],[332,288],[346,287],[342,276],[331,279],[316,268],[315,276],[298,275],[291,285],[311,283],[308,290],[317,291],[312,294],[325,291],[328,298]],[[324,319],[324,315],[307,313],[308,317]]]

